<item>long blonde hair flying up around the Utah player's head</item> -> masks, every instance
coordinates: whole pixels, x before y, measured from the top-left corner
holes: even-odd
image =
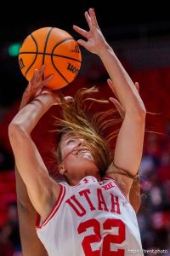
[[[106,135],[106,131],[107,128],[121,123],[122,118],[117,115],[118,112],[113,108],[93,114],[91,108],[94,103],[109,103],[109,101],[90,97],[96,92],[98,92],[96,87],[82,88],[77,90],[74,102],[66,102],[64,97],[62,98],[62,118],[55,118],[54,122],[57,127],[55,131],[59,132],[57,160],[58,164],[62,161],[61,137],[76,135],[86,141],[95,163],[99,167],[100,175],[104,176],[113,160],[113,147],[110,143],[117,136],[119,129],[116,128],[109,135]]]

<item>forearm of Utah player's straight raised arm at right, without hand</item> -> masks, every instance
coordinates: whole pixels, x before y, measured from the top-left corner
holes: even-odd
[[[99,57],[104,63],[107,72],[109,73],[113,84],[116,87],[116,93],[122,102],[122,107],[125,112],[134,113],[144,110],[138,91],[136,90],[132,79],[130,79],[122,63],[116,57],[113,49],[106,44],[105,48],[100,50]]]

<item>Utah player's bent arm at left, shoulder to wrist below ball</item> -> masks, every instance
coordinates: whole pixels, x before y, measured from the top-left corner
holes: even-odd
[[[16,166],[26,183],[31,203],[42,218],[47,214],[43,211],[43,207],[46,205],[47,208],[51,207],[54,198],[48,170],[35,143],[31,140],[31,131],[43,113],[46,113],[53,104],[53,96],[47,90],[43,90],[39,96],[36,96],[14,116],[8,126],[8,135]]]

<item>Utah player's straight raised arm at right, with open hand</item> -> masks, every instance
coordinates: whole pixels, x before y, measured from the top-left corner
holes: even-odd
[[[78,43],[90,52],[99,55],[105,68],[114,83],[116,93],[125,110],[125,118],[116,140],[116,149],[114,155],[114,165],[110,168],[114,173],[117,170],[125,170],[129,176],[135,177],[139,169],[142,157],[144,141],[144,121],[145,108],[138,91],[136,90],[132,79],[130,79],[122,63],[116,57],[111,46],[106,42],[100,31],[94,9],[85,12],[85,18],[88,22],[89,31],[85,31],[78,26],[73,28],[80,33],[86,41],[79,39]],[[112,88],[111,88],[112,90]],[[128,194],[133,179],[124,175],[114,176],[122,183],[125,193]]]

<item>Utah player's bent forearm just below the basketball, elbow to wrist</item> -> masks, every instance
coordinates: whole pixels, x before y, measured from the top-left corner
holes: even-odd
[[[23,131],[30,134],[37,125],[42,115],[52,106],[52,99],[47,94],[42,94],[22,108],[11,122],[11,125],[18,125]]]

